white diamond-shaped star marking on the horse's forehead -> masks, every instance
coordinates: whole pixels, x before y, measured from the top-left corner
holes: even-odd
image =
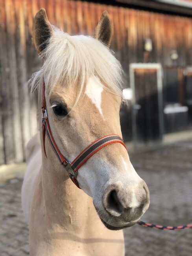
[[[103,117],[103,112],[101,108],[102,91],[103,91],[103,85],[99,80],[99,78],[96,76],[91,76],[87,83],[85,94],[90,98],[92,103],[96,106],[98,111],[100,111],[100,114]]]

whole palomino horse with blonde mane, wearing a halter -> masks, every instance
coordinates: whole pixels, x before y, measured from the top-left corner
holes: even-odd
[[[22,186],[31,256],[124,255],[122,229],[148,209],[148,187],[120,138],[122,69],[109,50],[112,34],[106,11],[95,38],[53,27],[44,9],[35,16],[33,43],[44,60],[32,81],[40,136],[28,145]],[[84,156],[77,172],[66,159],[90,143],[100,150]]]

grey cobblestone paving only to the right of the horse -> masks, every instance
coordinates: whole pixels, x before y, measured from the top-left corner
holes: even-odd
[[[171,226],[192,223],[191,146],[188,141],[130,155],[150,189],[150,208],[143,221]],[[126,256],[192,255],[192,230],[161,231],[135,225],[124,230],[124,235]]]

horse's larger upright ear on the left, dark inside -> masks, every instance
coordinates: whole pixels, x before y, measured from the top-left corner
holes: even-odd
[[[48,39],[50,39],[53,32],[54,30],[47,18],[45,9],[39,9],[33,22],[32,37],[33,44],[35,45],[35,49],[37,50],[38,54],[42,54],[42,51],[48,45]]]

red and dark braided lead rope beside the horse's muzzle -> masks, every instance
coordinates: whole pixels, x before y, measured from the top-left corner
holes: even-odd
[[[139,224],[140,226],[146,227],[146,228],[155,228],[155,229],[160,229],[160,230],[181,230],[181,229],[192,228],[192,223],[182,225],[182,226],[161,226],[161,225],[146,223],[144,221],[137,221],[137,224]]]

